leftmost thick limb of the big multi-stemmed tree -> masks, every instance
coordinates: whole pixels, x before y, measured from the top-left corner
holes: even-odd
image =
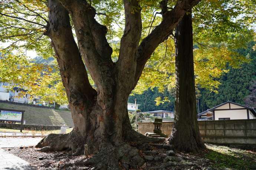
[[[49,0],[48,7],[50,24],[45,35],[52,40],[68,100],[73,106],[90,106],[96,91],[89,83],[85,65],[74,40],[69,13],[58,0]]]

